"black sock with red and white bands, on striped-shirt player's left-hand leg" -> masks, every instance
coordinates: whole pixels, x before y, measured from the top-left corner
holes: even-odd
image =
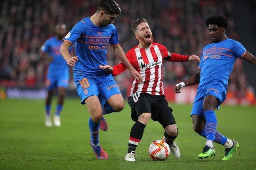
[[[136,147],[138,146],[138,143],[140,142],[143,136],[145,127],[146,125],[139,121],[135,122],[134,125],[132,126],[128,144],[128,153],[131,153],[132,151],[136,150]]]

